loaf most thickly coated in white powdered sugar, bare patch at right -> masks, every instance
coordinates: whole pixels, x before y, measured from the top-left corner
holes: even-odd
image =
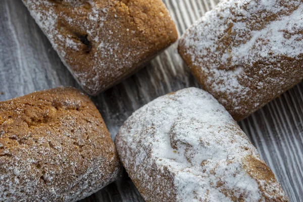
[[[115,144],[146,201],[288,201],[237,123],[198,88],[134,112]]]

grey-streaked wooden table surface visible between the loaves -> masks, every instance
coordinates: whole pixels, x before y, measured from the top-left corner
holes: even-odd
[[[218,2],[164,0],[179,36]],[[119,85],[91,97],[112,138],[132,112],[160,95],[198,84],[177,44]],[[0,100],[79,85],[61,63],[21,0],[0,1]],[[303,83],[239,124],[273,170],[290,201],[303,201]],[[82,201],[143,201],[127,174]]]

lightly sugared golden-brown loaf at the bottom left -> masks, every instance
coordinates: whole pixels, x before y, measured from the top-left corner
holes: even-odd
[[[121,170],[91,100],[70,87],[0,102],[0,201],[75,201]]]

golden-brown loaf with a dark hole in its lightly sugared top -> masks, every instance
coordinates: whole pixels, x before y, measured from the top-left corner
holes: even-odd
[[[162,0],[22,0],[83,89],[95,95],[177,39]]]

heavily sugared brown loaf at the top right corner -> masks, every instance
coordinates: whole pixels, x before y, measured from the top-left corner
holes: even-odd
[[[239,121],[303,79],[303,2],[222,1],[185,32],[179,53]]]

